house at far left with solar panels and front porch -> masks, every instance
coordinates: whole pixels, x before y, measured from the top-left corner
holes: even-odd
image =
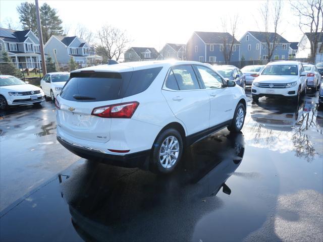
[[[7,51],[17,68],[40,68],[39,39],[31,30],[0,28],[0,55]]]

